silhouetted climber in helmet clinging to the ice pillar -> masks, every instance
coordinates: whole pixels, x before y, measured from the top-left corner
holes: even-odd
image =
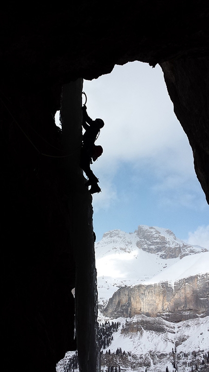
[[[84,105],[82,107],[83,111],[83,122],[82,126],[86,130],[83,134],[82,148],[81,148],[81,158],[80,167],[85,171],[88,181],[85,186],[91,186],[90,193],[100,192],[101,188],[98,185],[98,178],[94,175],[90,168],[92,160],[98,159],[103,153],[102,146],[96,146],[94,142],[98,138],[100,129],[104,127],[104,121],[102,119],[92,120],[87,114],[87,107]]]

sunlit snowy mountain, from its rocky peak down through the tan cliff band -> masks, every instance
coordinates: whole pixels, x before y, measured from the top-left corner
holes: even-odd
[[[96,244],[96,258],[106,316],[182,321],[209,315],[209,251],[171,230],[140,225],[131,234],[109,231]]]

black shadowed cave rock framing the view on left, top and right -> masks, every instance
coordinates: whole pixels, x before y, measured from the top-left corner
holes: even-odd
[[[208,15],[201,0],[189,6],[176,0],[2,4],[2,368],[54,372],[75,349],[75,286],[80,368],[100,369],[91,196],[78,166],[79,117],[76,125],[69,119],[76,128],[68,149],[55,126],[63,87],[110,73],[115,64],[159,63],[209,203]],[[72,96],[79,99],[77,89]]]

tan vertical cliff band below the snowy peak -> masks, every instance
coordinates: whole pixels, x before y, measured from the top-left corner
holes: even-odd
[[[104,313],[131,317],[137,314],[180,321],[209,315],[209,274],[169,282],[122,287],[109,299]]]

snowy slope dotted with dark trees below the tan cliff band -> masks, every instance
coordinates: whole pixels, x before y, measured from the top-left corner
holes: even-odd
[[[166,329],[165,332],[154,332],[142,328],[136,333],[122,334],[122,328],[125,327],[126,322],[140,324],[141,319],[146,320],[146,318],[146,316],[134,316],[127,319],[115,319],[120,321],[121,325],[118,331],[113,333],[113,340],[103,353],[110,350],[113,354],[118,348],[122,348],[122,352],[125,351],[126,355],[128,354],[126,360],[124,357],[112,358],[115,365],[118,362],[122,371],[144,372],[145,367],[149,372],[165,371],[166,366],[169,371],[172,371],[175,360],[178,371],[191,372],[192,366],[195,370],[195,364],[201,364],[203,353],[209,351],[209,316],[179,323],[170,323],[160,319]],[[147,320],[156,321],[154,318],[147,318]],[[196,358],[194,352],[197,354]],[[102,371],[106,371],[104,364]],[[208,371],[208,367],[205,371]]]

